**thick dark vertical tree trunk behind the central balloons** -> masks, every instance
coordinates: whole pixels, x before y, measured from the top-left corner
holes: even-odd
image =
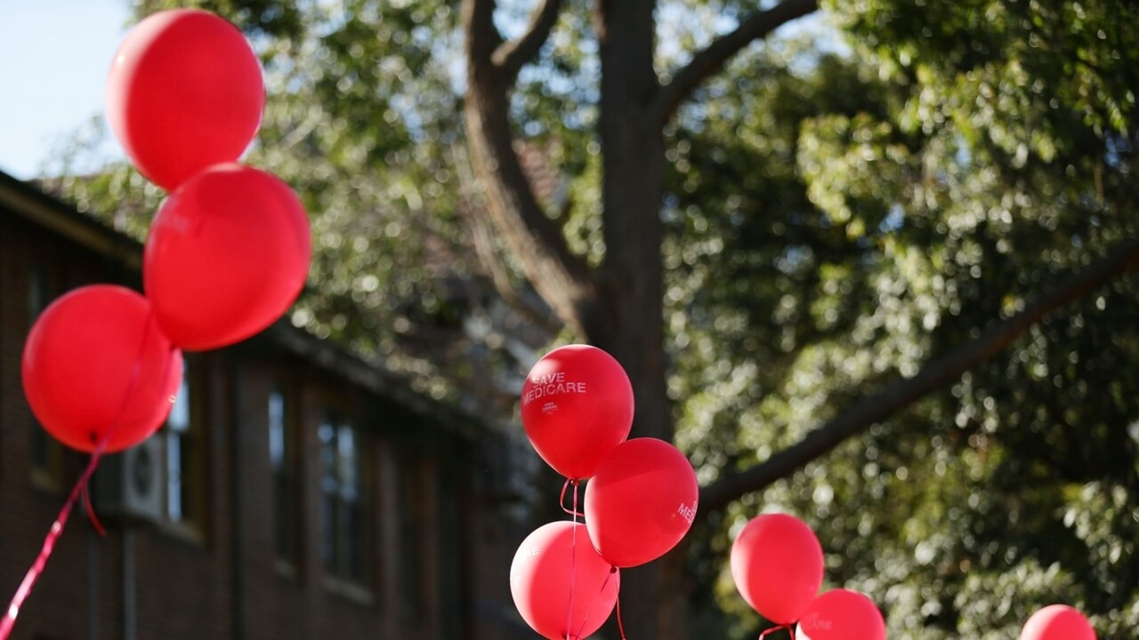
[[[597,7],[605,229],[597,311],[605,315],[583,323],[589,342],[613,354],[632,380],[632,437],[671,442],[662,311],[664,137],[650,116],[659,90],[653,68],[654,5],[600,0]],[[686,637],[685,575],[679,553],[622,573],[622,615],[631,637]],[[612,623],[609,635],[616,637]]]

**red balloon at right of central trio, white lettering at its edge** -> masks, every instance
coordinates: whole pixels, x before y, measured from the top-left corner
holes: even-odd
[[[585,484],[585,528],[603,558],[636,567],[680,542],[698,498],[696,473],[680,450],[637,437],[615,446]]]

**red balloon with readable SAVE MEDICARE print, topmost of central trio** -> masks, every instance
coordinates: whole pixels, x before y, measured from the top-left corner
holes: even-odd
[[[522,386],[522,425],[542,460],[583,479],[633,424],[633,387],[612,355],[567,345],[542,356]]]

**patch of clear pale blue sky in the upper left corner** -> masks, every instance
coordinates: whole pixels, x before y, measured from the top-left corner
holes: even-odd
[[[129,0],[0,0],[0,171],[36,175],[101,114]],[[100,149],[121,156],[117,143]]]

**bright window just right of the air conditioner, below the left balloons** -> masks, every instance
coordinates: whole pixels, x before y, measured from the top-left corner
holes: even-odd
[[[162,430],[166,448],[164,515],[179,531],[200,538],[205,515],[205,450],[197,411],[200,402],[195,397],[192,383],[187,364]]]

